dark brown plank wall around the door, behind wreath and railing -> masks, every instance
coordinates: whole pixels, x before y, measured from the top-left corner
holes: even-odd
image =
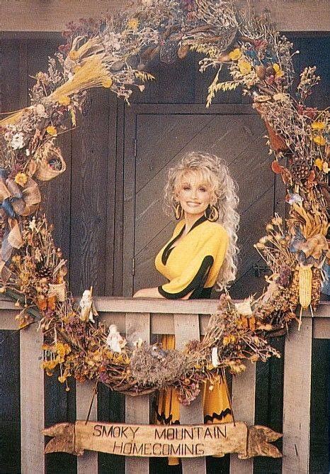
[[[61,43],[59,35],[36,39],[28,34],[25,39],[3,38],[1,40],[1,111],[18,109],[28,103],[28,87],[33,84],[29,76],[47,67],[47,55],[52,55]],[[329,77],[329,38],[297,38],[295,46],[300,55],[295,56],[297,70],[305,65],[317,65],[319,73]],[[134,106],[162,104],[203,104],[210,77],[201,77],[195,71],[190,57],[176,67],[154,64],[153,72],[159,79],[135,99]],[[312,104],[327,105],[329,83],[326,80],[317,87]],[[217,97],[215,104],[227,101],[240,104],[241,97],[234,92]],[[198,106],[199,107],[199,106]],[[129,111],[128,114],[131,114]],[[45,186],[47,201],[45,210],[50,221],[55,223],[55,241],[69,259],[69,277],[72,292],[81,294],[84,288],[93,284],[96,294],[120,295],[123,291],[123,192],[125,121],[127,109],[123,102],[110,97],[101,89],[93,92],[89,106],[79,120],[79,127],[61,138],[61,146],[67,161],[67,172]],[[46,192],[47,191],[47,192]],[[273,198],[273,209],[282,206],[282,201]],[[258,219],[256,214],[255,219]],[[263,217],[261,217],[263,219]],[[260,219],[259,219],[260,220]],[[246,294],[249,289],[246,288]],[[8,449],[4,452],[8,472],[18,472],[20,465],[20,402],[18,397],[9,397],[19,392],[18,335],[14,331],[0,332],[1,360],[1,412],[6,425]],[[283,348],[283,340],[275,342]],[[323,344],[323,345],[322,345]],[[326,356],[324,343],[315,343],[320,354]],[[322,358],[314,352],[313,390],[314,399],[325,397],[325,370]],[[257,370],[256,397],[258,400],[256,420],[282,429],[281,390],[283,387],[283,361],[271,360]],[[72,420],[75,412],[74,385],[71,392],[64,392],[55,377],[46,379],[45,423],[47,425]],[[8,403],[8,399],[13,399]],[[123,397],[102,387],[98,394],[98,416],[101,420],[123,420]],[[323,412],[324,413],[324,412]],[[312,407],[314,423],[322,421],[322,409]],[[9,427],[8,427],[9,426]],[[314,425],[316,426],[316,425]],[[322,429],[312,431],[313,451],[317,453],[319,465],[324,459],[324,433]],[[5,437],[6,439],[6,437]],[[323,451],[322,451],[323,450]],[[323,456],[323,457],[322,457]],[[123,472],[123,458],[101,455],[101,472],[118,470]],[[213,461],[212,461],[213,462]],[[313,461],[317,465],[317,461]],[[280,461],[272,461],[271,472],[280,472]],[[1,464],[0,464],[1,465]],[[255,472],[269,472],[268,460],[257,460]],[[47,456],[47,472],[75,472],[76,459],[59,453]],[[158,465],[157,470],[161,468]],[[166,468],[164,468],[166,469]],[[210,467],[209,472],[213,472]],[[219,469],[215,463],[214,470]],[[160,472],[160,471],[159,471]],[[225,472],[225,471],[223,471]],[[316,472],[322,472],[316,470]]]

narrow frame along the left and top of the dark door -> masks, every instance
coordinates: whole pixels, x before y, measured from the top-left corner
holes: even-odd
[[[123,296],[134,288],[135,250],[135,172],[137,155],[137,116],[154,115],[256,115],[251,104],[132,104],[125,106],[123,179]]]

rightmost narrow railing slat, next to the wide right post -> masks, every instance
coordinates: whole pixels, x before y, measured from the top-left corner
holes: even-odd
[[[242,394],[244,394],[243,399]],[[256,365],[249,363],[246,371],[233,377],[232,380],[232,406],[237,421],[246,421],[248,425],[254,424],[255,397]],[[253,472],[253,458],[242,460],[237,457],[237,454],[230,456],[230,474],[252,474]]]

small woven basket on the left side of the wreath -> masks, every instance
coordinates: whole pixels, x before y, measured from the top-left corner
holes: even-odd
[[[35,177],[40,181],[49,181],[52,178],[61,175],[67,169],[67,165],[62,157],[61,150],[49,141],[40,148],[36,153],[35,157],[40,160],[40,164],[35,171]],[[50,160],[59,160],[61,167],[59,170],[55,170],[50,166]]]

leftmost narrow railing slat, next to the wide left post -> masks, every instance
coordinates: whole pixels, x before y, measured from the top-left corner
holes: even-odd
[[[93,397],[95,381],[76,383],[76,419],[86,420],[89,406]],[[97,397],[93,398],[93,407],[89,416],[90,421],[97,421],[98,407]],[[95,451],[85,451],[83,456],[79,456],[76,461],[77,474],[96,474],[98,472],[98,453]]]

